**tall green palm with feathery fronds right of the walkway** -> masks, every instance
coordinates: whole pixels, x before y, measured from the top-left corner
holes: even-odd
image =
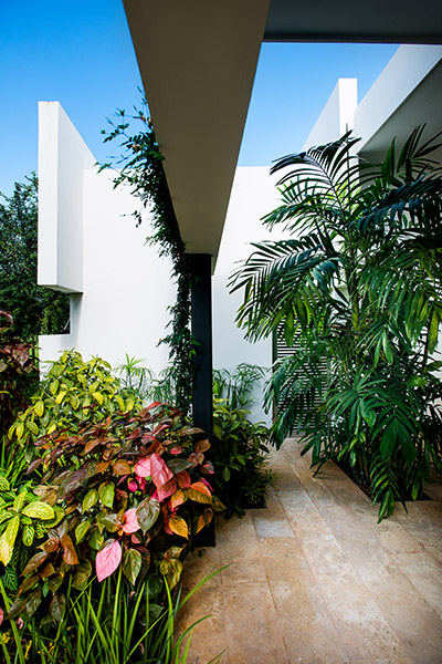
[[[280,159],[282,204],[264,222],[292,237],[254,245],[231,282],[245,289],[238,322],[250,339],[280,324],[288,344],[301,336],[269,385],[274,442],[297,427],[314,465],[347,459],[380,500],[379,519],[420,496],[431,464],[442,468],[432,406],[442,394],[442,176],[431,158],[441,144],[422,132],[399,154],[393,141],[378,165],[354,156],[349,133]]]

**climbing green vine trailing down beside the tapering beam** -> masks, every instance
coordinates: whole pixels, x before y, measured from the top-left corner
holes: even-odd
[[[119,141],[123,154],[113,159],[113,164],[103,164],[101,170],[110,166],[119,172],[114,186],[129,185],[131,194],[137,196],[143,207],[148,207],[152,220],[152,234],[147,238],[159,248],[160,256],[167,256],[172,262],[172,276],[177,284],[177,299],[170,307],[170,333],[160,343],[169,345],[175,383],[175,405],[186,415],[190,411],[191,384],[193,377],[193,355],[196,340],[190,331],[191,271],[190,257],[181,239],[169,188],[162,168],[164,156],[159,149],[149,117],[146,98],[141,108],[135,107],[134,114],[118,110],[116,121],[108,121],[112,131],[106,132],[104,142]],[[133,125],[137,124],[138,132]],[[141,211],[133,212],[137,226],[141,224]]]

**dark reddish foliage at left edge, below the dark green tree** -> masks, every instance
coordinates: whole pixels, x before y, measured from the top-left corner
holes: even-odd
[[[6,339],[12,322],[10,313],[0,311],[1,438],[4,438],[19,411],[25,407],[39,381],[32,344],[15,339]]]

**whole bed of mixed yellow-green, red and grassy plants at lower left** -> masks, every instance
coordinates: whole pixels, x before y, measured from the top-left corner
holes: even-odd
[[[0,469],[4,661],[186,661],[173,637],[181,560],[223,506],[203,432],[169,405],[139,405],[106,362],[71,351],[12,425]]]

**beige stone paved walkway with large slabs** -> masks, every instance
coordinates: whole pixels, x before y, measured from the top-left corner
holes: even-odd
[[[432,500],[377,508],[334,464],[313,478],[299,445],[272,455],[267,508],[217,521],[217,547],[187,558],[188,664],[441,664],[442,484]]]

